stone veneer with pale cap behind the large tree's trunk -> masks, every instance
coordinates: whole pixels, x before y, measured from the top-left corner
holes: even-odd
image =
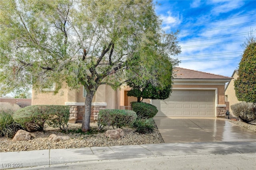
[[[83,121],[85,107],[81,106],[82,104],[76,103],[76,102],[66,102],[65,105],[70,106],[69,120],[71,123]],[[90,122],[96,122],[98,120],[98,115],[99,115],[100,110],[104,110],[104,109],[106,109],[106,104],[93,103],[91,106]]]

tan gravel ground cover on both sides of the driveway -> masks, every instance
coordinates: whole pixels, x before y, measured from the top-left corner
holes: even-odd
[[[250,131],[256,132],[256,125],[247,124],[242,121],[228,120],[238,126],[244,127]],[[22,150],[41,150],[41,149],[66,149],[66,148],[80,148],[80,147],[104,147],[117,145],[141,145],[151,143],[164,143],[158,129],[155,129],[150,134],[139,134],[134,129],[123,128],[124,137],[120,139],[109,139],[105,137],[104,133],[81,134],[75,133],[81,129],[81,123],[70,124],[69,129],[73,132],[61,133],[58,129],[46,128],[43,132],[33,132],[32,140],[16,141],[12,139],[0,138],[0,152],[14,152]],[[96,123],[90,123],[91,129],[97,129]],[[106,128],[112,129],[112,127]],[[50,141],[48,137],[51,134],[60,136],[69,136],[70,139],[65,141]]]

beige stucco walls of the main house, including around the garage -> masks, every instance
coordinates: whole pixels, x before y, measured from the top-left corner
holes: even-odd
[[[218,103],[220,105],[225,104],[224,84],[223,85],[173,85],[173,88],[217,88],[218,89]],[[92,102],[106,103],[107,109],[120,109],[120,106],[124,104],[125,91],[130,90],[128,86],[121,86],[117,90],[113,90],[108,85],[100,85],[96,94],[94,95]],[[128,106],[130,102],[136,101],[137,98],[129,97]],[[66,87],[66,84],[60,89],[60,91],[54,95],[53,92],[32,92],[32,105],[40,104],[54,104],[65,105],[65,102],[85,102],[83,97],[83,86],[79,90],[70,90]],[[144,99],[143,102],[150,103],[149,99]]]

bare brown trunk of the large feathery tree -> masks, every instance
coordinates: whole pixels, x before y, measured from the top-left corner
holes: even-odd
[[[89,91],[86,94],[85,98],[85,109],[84,109],[84,117],[82,123],[82,131],[87,132],[90,130],[90,117],[91,117],[91,107],[92,107],[92,98],[94,96],[94,91]]]

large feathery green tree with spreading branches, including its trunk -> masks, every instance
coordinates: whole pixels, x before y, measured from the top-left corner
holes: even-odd
[[[152,64],[176,47],[152,0],[1,1],[0,30],[1,92],[53,83],[58,92],[65,81],[73,89],[83,85],[82,131],[90,128],[101,84],[117,88],[138,72],[141,80],[153,80]]]

